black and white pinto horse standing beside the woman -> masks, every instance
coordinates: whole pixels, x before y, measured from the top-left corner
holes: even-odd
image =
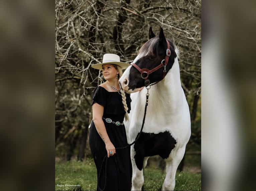
[[[130,120],[125,123],[130,142],[139,135],[147,91],[150,95],[143,131],[131,146],[132,190],[141,190],[144,184],[142,169],[148,158],[154,155],[160,155],[166,162],[162,190],[173,190],[175,187],[176,170],[191,133],[177,53],[170,40],[165,39],[162,28],[157,37],[150,27],[149,40],[120,78],[121,87],[133,93]]]

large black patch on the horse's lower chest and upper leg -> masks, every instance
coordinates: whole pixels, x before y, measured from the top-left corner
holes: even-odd
[[[139,139],[134,144],[134,159],[138,169],[142,170],[143,159],[146,156],[159,155],[163,159],[168,158],[171,150],[175,147],[175,144],[176,140],[168,131],[157,134],[141,132]]]

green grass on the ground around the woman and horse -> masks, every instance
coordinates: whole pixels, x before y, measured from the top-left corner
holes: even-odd
[[[160,169],[144,169],[144,190],[161,190],[165,175]],[[174,190],[201,190],[201,173],[176,173]],[[60,186],[63,185],[63,186]],[[73,185],[73,186],[72,186]],[[80,185],[80,186],[75,186]],[[55,190],[96,190],[97,172],[93,159],[84,162],[56,162]]]

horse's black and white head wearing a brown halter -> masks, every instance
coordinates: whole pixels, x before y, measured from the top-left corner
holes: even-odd
[[[138,92],[150,84],[161,81],[171,69],[176,57],[173,44],[166,40],[163,29],[159,37],[149,29],[149,40],[140,48],[133,63],[120,78],[120,84],[128,93]]]

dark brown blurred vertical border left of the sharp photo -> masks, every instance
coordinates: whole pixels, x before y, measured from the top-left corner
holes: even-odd
[[[54,190],[54,4],[0,2],[1,190]]]

